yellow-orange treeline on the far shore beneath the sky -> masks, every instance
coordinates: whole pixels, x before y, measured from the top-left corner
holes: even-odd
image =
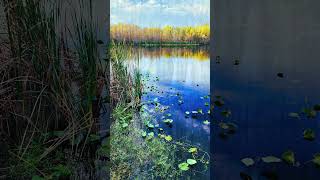
[[[163,28],[142,28],[133,24],[111,25],[111,38],[119,42],[145,43],[145,44],[208,44],[210,41],[210,26]]]

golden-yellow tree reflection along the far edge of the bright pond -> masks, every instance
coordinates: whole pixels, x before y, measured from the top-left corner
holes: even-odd
[[[152,59],[159,57],[181,57],[192,58],[196,60],[208,60],[209,49],[208,47],[201,48],[135,48],[134,54],[142,54]]]

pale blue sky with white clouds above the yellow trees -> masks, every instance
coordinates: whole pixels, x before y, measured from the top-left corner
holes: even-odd
[[[111,0],[111,24],[141,27],[210,23],[210,0]]]

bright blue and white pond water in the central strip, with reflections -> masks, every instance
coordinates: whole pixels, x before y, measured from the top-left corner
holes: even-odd
[[[204,123],[210,121],[208,48],[136,48],[133,52],[133,64],[144,77],[142,102],[155,117],[153,124],[159,124],[173,140],[209,152],[210,125]],[[172,119],[172,124],[163,122],[166,119]],[[199,179],[209,179],[209,174],[202,172]]]

